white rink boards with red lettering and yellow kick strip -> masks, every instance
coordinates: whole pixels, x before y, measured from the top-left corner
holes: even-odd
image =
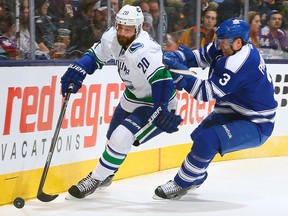
[[[35,198],[51,138],[61,109],[60,78],[66,66],[0,67],[0,205],[15,197]],[[214,161],[288,155],[288,71],[268,65],[279,103],[273,136],[257,149],[217,156]],[[207,71],[197,71],[205,78]],[[94,169],[103,152],[106,130],[124,90],[115,66],[87,76],[72,95],[52,158],[44,191],[59,193]],[[191,148],[190,133],[213,110],[213,102],[197,102],[177,94],[177,112],[184,118],[179,132],[162,134],[127,156],[116,179],[181,165]],[[285,124],[286,123],[286,124]]]

